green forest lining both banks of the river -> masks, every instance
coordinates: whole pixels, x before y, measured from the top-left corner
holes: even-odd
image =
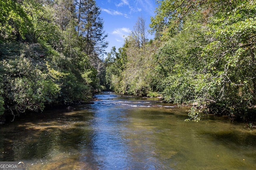
[[[0,0],[0,114],[90,101],[92,94],[161,97],[202,114],[256,120],[256,2],[158,0],[107,53],[95,0]]]

